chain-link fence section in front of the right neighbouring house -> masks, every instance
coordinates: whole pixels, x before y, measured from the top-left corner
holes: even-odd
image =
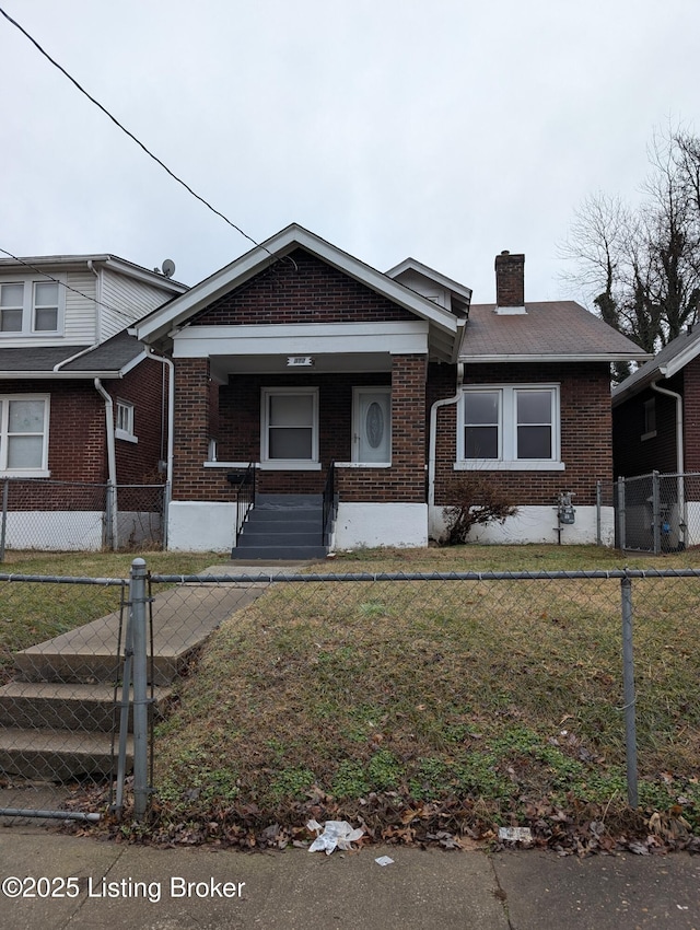
[[[619,478],[615,507],[621,549],[661,555],[700,545],[700,474]]]

